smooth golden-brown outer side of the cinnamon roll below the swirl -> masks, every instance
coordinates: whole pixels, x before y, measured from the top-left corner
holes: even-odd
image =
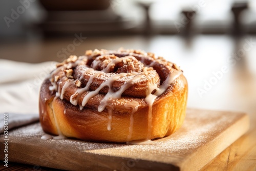
[[[160,70],[160,67],[154,69]],[[173,70],[175,69],[170,69],[171,72]],[[159,77],[166,77],[167,74],[163,74],[165,72]],[[163,80],[161,80],[162,82]],[[149,136],[149,106],[144,98],[122,96],[120,99],[116,99],[111,104],[111,110],[113,110],[112,129],[108,131],[109,106],[102,112],[97,110],[100,101],[105,96],[104,94],[97,94],[88,101],[82,110],[79,110],[79,105],[73,105],[69,101],[70,96],[76,91],[74,87],[67,90],[63,100],[61,100],[59,97],[55,97],[56,92],[49,90],[50,86],[52,84],[49,79],[42,83],[39,111],[42,129],[54,135],[58,135],[58,130],[60,130],[61,134],[67,137],[92,141],[127,142],[155,139],[173,134],[179,129],[185,118],[188,88],[186,78],[183,75],[176,78],[169,88],[156,98],[152,108],[152,130]],[[83,97],[79,97],[78,104],[81,103]],[[139,105],[137,112],[133,114],[132,134],[131,138],[128,138],[131,131],[130,123],[133,109],[127,108],[125,104],[131,101],[136,101]]]

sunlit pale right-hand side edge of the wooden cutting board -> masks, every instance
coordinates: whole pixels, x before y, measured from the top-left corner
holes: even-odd
[[[204,165],[209,163],[212,159],[223,152],[224,149],[226,149],[234,141],[244,135],[249,130],[249,125],[249,116],[243,113],[243,116],[239,120],[229,126],[218,137],[213,139],[208,144],[200,147],[196,153],[187,156],[187,158],[182,161],[182,163],[178,164],[180,170],[201,169]],[[214,147],[215,150],[212,150],[212,147]]]

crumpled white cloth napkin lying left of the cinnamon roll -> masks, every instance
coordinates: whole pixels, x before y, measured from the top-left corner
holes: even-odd
[[[41,82],[55,68],[55,64],[56,62],[31,64],[0,59],[0,133],[4,113],[9,114],[10,127],[38,120]]]

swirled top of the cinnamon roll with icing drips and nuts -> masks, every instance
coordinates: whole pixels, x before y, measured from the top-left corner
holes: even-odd
[[[80,111],[108,113],[108,131],[112,130],[113,112],[131,115],[127,138],[120,142],[140,140],[132,138],[133,116],[143,108],[147,108],[147,134],[142,137],[146,140],[158,138],[152,135],[153,105],[169,93],[168,89],[174,89],[176,79],[183,76],[174,63],[138,50],[89,50],[84,56],[70,56],[56,67],[45,81],[49,87],[48,94],[54,98],[79,106]],[[187,89],[186,81],[183,83],[183,89]],[[187,90],[183,89],[182,93],[186,96]],[[186,97],[184,101],[186,103]],[[56,127],[57,134],[63,134],[57,123]],[[112,141],[104,138],[95,140]]]

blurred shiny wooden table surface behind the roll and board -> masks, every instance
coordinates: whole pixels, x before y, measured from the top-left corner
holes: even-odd
[[[184,70],[189,83],[188,106],[211,110],[246,112],[250,117],[249,131],[226,148],[219,156],[205,165],[202,170],[255,170],[256,169],[256,44],[246,51],[242,59],[232,64],[228,61],[233,52],[239,52],[246,44],[245,39],[234,44],[228,36],[196,36],[187,44],[179,36],[120,36],[90,37],[75,48],[72,54],[82,55],[86,49],[119,47],[144,49],[164,56],[178,63]],[[62,48],[72,44],[74,37],[53,40],[34,40],[3,44],[0,57],[26,62],[61,60],[57,55]],[[247,40],[255,36],[246,36]],[[62,53],[62,52],[61,52]],[[68,56],[68,55],[67,55]],[[231,59],[230,59],[231,60]],[[228,71],[212,84],[210,90],[202,96],[198,88],[203,89],[205,81],[216,77],[214,73],[226,66]],[[20,165],[18,165],[20,166]],[[31,167],[28,167],[31,168]]]

